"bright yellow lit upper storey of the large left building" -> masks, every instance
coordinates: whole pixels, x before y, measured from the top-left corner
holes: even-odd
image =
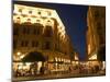
[[[19,12],[19,10],[22,9],[22,13]],[[32,11],[32,14],[29,13],[29,11]],[[63,35],[65,35],[65,26],[62,23],[57,12],[55,10],[52,9],[42,9],[42,8],[34,8],[34,7],[28,7],[28,5],[22,5],[22,4],[14,4],[14,13],[16,13],[16,15],[13,15],[13,21],[16,22],[16,19],[14,16],[21,16],[21,23],[26,22],[28,17],[31,17],[31,23],[35,23],[37,19],[42,19],[42,17],[46,17],[47,20],[50,20],[51,22],[48,23],[48,25],[54,25],[54,21],[51,20],[51,17],[54,17],[57,20],[61,28],[61,32]],[[41,14],[38,14],[37,12],[41,12]],[[51,14],[50,14],[51,13]],[[22,15],[25,15],[25,17],[23,17]],[[32,15],[37,16],[37,17],[32,17]],[[47,24],[47,20],[43,20],[41,21],[41,24],[45,25]]]

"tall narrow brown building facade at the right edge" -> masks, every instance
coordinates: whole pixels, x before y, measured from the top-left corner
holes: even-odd
[[[99,54],[99,50],[106,48],[106,8],[105,7],[89,7],[87,13],[87,51],[88,60],[105,61],[105,51]],[[102,55],[103,54],[103,55]],[[102,56],[101,56],[102,55]],[[103,59],[102,59],[103,58]]]

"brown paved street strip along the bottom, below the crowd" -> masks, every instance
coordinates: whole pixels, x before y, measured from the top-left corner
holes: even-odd
[[[100,77],[105,75],[103,73],[94,73],[94,74],[85,74],[85,73],[58,73],[58,74],[43,74],[36,77],[19,77],[14,78],[13,81],[26,81],[26,80],[45,80],[45,79],[65,79],[65,78],[81,78],[81,77]]]

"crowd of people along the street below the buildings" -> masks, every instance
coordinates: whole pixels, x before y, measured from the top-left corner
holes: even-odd
[[[36,65],[31,65],[30,69],[16,69],[13,72],[14,77],[29,77],[29,75],[40,75],[40,74],[52,74],[52,73],[98,73],[100,71],[99,66],[94,67],[86,67],[86,66],[69,66],[68,70],[64,71],[55,71],[52,72],[46,66],[42,66],[40,70],[37,71]]]

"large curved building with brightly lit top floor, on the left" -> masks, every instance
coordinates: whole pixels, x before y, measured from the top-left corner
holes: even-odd
[[[14,4],[13,9],[13,68],[18,69],[29,52],[38,51],[47,58],[48,69],[68,70],[73,51],[57,12],[53,9]],[[58,63],[63,62],[63,63]],[[38,61],[40,67],[42,61]],[[28,63],[24,68],[29,67]],[[54,67],[55,66],[55,67]],[[38,68],[40,68],[38,67]],[[22,68],[22,67],[20,67]]]

